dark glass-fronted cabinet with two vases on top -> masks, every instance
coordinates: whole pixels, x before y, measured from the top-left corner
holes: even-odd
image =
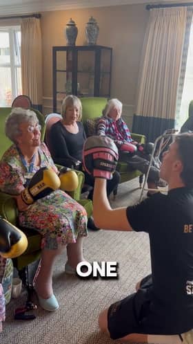
[[[110,97],[112,48],[107,46],[53,47],[53,111],[60,112],[68,94]]]

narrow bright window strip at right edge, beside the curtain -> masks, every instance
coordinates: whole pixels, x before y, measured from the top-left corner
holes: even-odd
[[[188,107],[193,100],[193,25],[190,30],[190,44],[187,53],[187,64],[185,69],[185,80],[183,85],[183,94],[181,100],[181,108],[176,118],[176,127],[181,128],[188,117]]]

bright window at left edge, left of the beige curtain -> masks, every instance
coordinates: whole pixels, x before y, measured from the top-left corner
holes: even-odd
[[[0,27],[0,107],[8,107],[21,90],[20,26]]]

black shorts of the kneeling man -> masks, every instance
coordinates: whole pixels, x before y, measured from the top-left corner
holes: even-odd
[[[153,302],[152,302],[153,300]],[[108,309],[108,330],[112,339],[128,334],[182,334],[192,329],[192,309],[172,309],[154,298],[152,276],[141,281],[140,289]]]

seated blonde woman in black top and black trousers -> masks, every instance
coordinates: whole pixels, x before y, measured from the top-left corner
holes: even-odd
[[[76,96],[67,96],[61,106],[62,119],[52,125],[50,129],[50,152],[55,163],[75,168],[82,168],[83,145],[86,139],[83,123],[81,123],[82,106]],[[85,183],[94,186],[94,178],[87,172]],[[120,181],[119,172],[114,172],[112,179],[107,183],[107,194],[117,188]],[[92,191],[88,195],[92,199]],[[90,222],[88,222],[88,227]]]

